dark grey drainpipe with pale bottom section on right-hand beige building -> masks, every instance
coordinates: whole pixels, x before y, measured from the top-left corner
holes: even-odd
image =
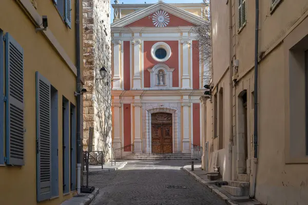
[[[254,167],[250,198],[255,197],[257,164],[258,164],[258,44],[259,44],[259,0],[256,0],[256,30],[255,30],[255,110],[254,110]]]

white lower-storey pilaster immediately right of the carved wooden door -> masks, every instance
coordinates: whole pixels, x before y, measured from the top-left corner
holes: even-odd
[[[187,98],[188,99],[188,96],[183,96],[183,99]],[[182,140],[182,143],[183,143],[183,149],[182,149],[182,152],[183,153],[189,153],[190,152],[190,141],[189,141],[189,109],[190,109],[190,106],[191,104],[190,103],[183,103],[181,105],[183,107],[183,129],[182,129],[182,132],[183,132],[183,140]]]

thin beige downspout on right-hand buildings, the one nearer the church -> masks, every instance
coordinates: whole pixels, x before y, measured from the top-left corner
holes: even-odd
[[[228,148],[228,155],[229,155],[229,164],[228,164],[228,171],[229,171],[229,179],[232,180],[232,146],[233,146],[233,66],[232,66],[232,3],[231,0],[228,1],[229,6],[229,80],[230,80],[230,127],[229,127],[229,148]]]

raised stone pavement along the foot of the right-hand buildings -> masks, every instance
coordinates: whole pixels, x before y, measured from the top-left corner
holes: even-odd
[[[183,167],[183,170],[189,175],[194,177],[201,185],[210,189],[211,192],[215,193],[221,199],[223,199],[227,204],[230,205],[259,205],[259,201],[254,199],[249,199],[247,196],[232,196],[220,187],[215,185],[216,181],[211,181],[207,179],[207,174],[201,169],[201,163],[196,163],[194,166],[194,171],[191,171],[191,164]],[[218,180],[222,181],[222,179]]]

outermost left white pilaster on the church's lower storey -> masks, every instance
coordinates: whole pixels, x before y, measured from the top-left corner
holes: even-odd
[[[120,133],[120,127],[121,127],[121,124],[120,124],[120,109],[122,107],[122,105],[120,103],[113,103],[112,104],[112,107],[113,107],[113,122],[114,122],[114,125],[113,125],[113,149],[117,149],[117,148],[121,148],[121,133]],[[118,151],[116,153],[117,157],[121,157],[121,153],[122,151]]]

